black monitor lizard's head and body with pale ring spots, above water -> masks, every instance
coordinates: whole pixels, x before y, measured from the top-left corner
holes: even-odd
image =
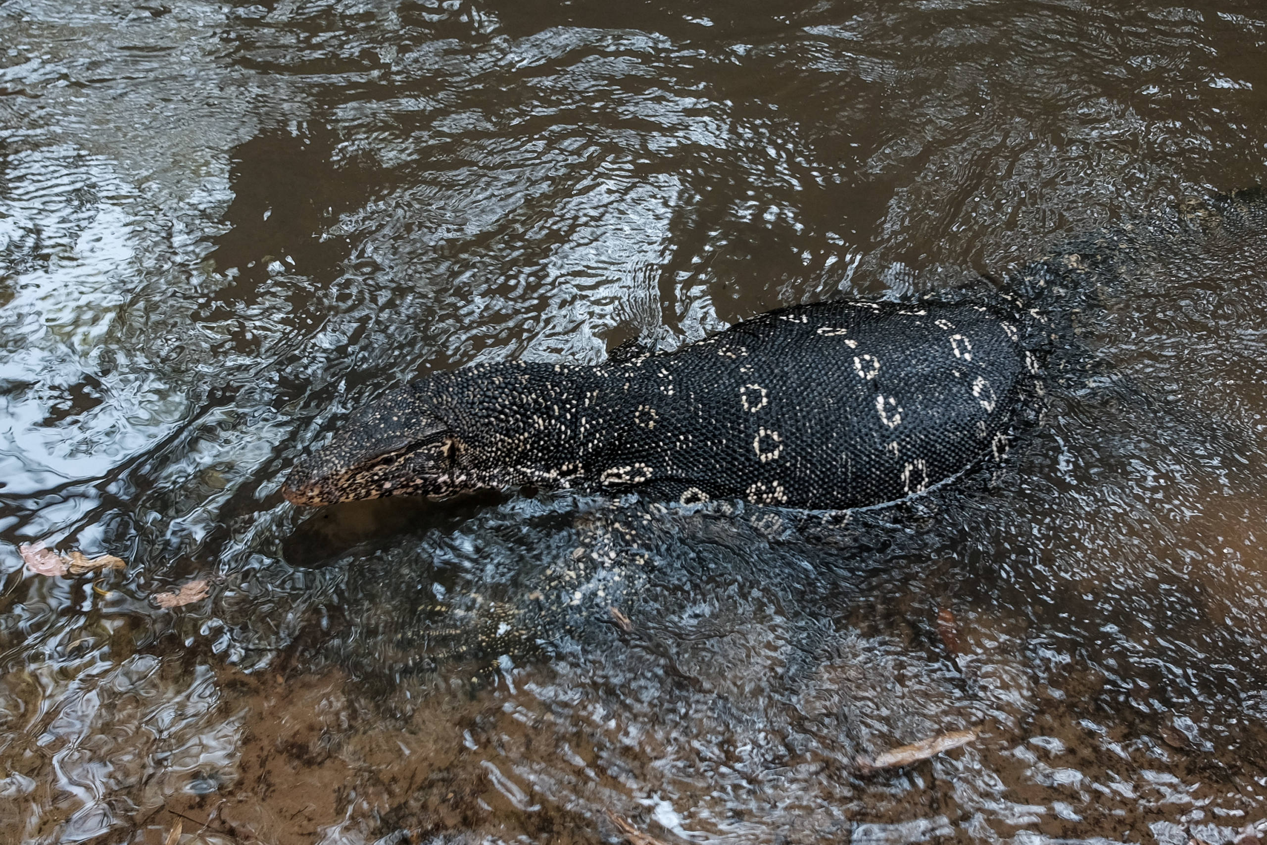
[[[304,504],[516,484],[896,502],[998,457],[1039,371],[1025,331],[1020,312],[973,302],[846,300],[599,366],[474,365],[364,409],[284,492]]]

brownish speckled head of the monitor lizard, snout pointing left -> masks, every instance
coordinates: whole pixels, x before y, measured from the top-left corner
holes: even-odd
[[[290,471],[281,494],[322,505],[385,495],[449,495],[468,489],[461,441],[412,386],[384,395]]]

